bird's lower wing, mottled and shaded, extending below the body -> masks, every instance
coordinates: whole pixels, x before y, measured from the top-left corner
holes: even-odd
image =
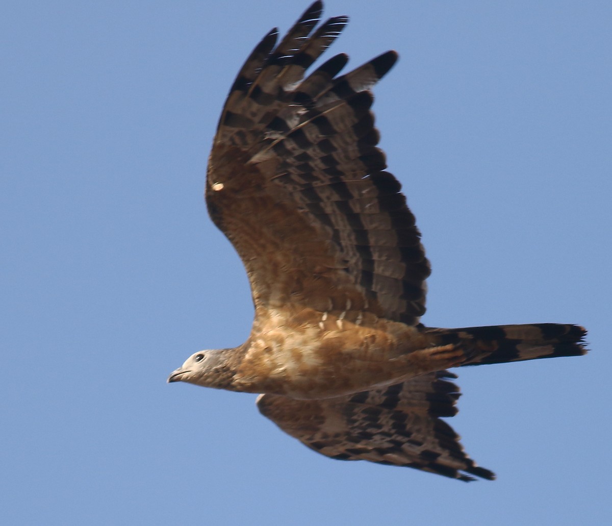
[[[340,460],[370,460],[430,473],[493,480],[463,451],[459,436],[441,416],[457,413],[457,378],[433,372],[373,391],[324,400],[263,394],[259,411],[304,445]],[[469,475],[468,475],[469,474]]]

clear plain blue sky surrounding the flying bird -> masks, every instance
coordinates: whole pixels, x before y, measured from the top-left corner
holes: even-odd
[[[0,519],[11,525],[612,523],[612,3],[328,0],[326,53],[395,49],[389,170],[433,326],[580,323],[591,353],[461,369],[465,484],[318,456],[255,396],[166,385],[248,335],[202,198],[237,69],[308,0],[6,1]]]

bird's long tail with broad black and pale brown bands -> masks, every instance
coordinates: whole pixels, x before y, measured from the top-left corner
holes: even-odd
[[[426,329],[437,345],[457,345],[465,351],[461,366],[499,364],[586,354],[586,330],[578,325],[535,323],[458,329]]]

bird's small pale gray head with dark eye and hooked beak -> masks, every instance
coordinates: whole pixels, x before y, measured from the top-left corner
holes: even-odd
[[[191,355],[168,377],[168,383],[186,381],[203,387],[228,389],[234,376],[233,349],[204,350]]]

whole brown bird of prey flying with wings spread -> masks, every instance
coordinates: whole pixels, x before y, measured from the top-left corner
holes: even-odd
[[[247,269],[250,337],[196,353],[169,381],[265,393],[264,415],[330,457],[492,479],[439,419],[459,396],[446,369],[581,355],[585,331],[419,323],[430,265],[370,111],[397,54],[345,75],[339,54],[305,77],[348,21],[315,29],[322,7],[253,50],[209,158],[206,202]]]

